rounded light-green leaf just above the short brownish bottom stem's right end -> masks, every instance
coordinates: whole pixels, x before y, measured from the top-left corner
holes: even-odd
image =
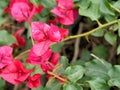
[[[65,75],[71,82],[81,79],[85,73],[85,68],[80,65],[69,66],[65,70]]]

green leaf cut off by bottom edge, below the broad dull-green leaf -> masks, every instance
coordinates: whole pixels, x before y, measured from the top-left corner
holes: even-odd
[[[87,81],[91,90],[109,90],[106,81],[102,78],[96,78],[94,80]]]

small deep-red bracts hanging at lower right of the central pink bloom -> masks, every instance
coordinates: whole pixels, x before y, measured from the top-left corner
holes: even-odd
[[[51,56],[51,59],[50,59],[49,63],[46,62],[46,63],[41,64],[42,70],[45,73],[47,73],[47,71],[53,71],[55,66],[58,64],[59,58],[60,58],[60,54],[59,53],[54,53]]]

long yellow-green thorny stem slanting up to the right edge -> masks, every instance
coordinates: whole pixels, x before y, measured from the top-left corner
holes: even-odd
[[[83,33],[83,34],[68,36],[67,38],[63,39],[63,41],[67,41],[67,40],[69,40],[69,39],[74,39],[74,38],[80,38],[80,37],[83,37],[83,36],[88,36],[88,35],[92,34],[93,32],[96,32],[96,31],[98,31],[98,30],[100,30],[100,29],[102,29],[102,28],[105,28],[105,27],[107,27],[107,26],[110,26],[110,25],[112,25],[112,24],[115,24],[115,23],[117,23],[118,21],[119,21],[119,20],[114,20],[114,21],[112,21],[112,22],[109,22],[109,23],[100,25],[99,27],[97,27],[97,28],[95,28],[95,29],[92,29],[92,30],[90,30],[90,31],[88,31],[88,32],[86,32],[86,33]]]

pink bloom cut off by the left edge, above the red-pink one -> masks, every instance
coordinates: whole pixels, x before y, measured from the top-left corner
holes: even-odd
[[[13,62],[12,50],[9,46],[0,47],[0,69]]]

